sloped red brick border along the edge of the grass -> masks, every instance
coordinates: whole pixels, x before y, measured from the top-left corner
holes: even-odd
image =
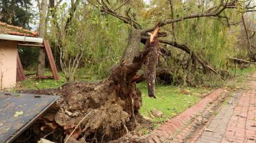
[[[170,142],[174,137],[178,136],[183,138],[186,136],[189,127],[192,123],[200,121],[200,114],[208,111],[208,107],[216,101],[219,96],[221,96],[223,89],[218,88],[214,90],[211,94],[203,98],[203,100],[199,101],[189,109],[183,111],[183,113],[177,115],[176,117],[166,121],[163,125],[161,125],[158,129],[153,130],[147,136],[148,142],[150,143],[161,143],[161,142]],[[176,142],[176,140],[174,140]]]

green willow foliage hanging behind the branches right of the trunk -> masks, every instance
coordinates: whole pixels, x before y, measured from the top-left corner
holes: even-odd
[[[218,5],[220,1],[173,1],[174,18],[187,16],[189,14],[201,13],[212,5]],[[241,8],[242,9],[242,8]],[[152,19],[150,22],[161,21],[170,18],[170,4],[168,1],[152,1],[148,11],[144,14],[145,19]],[[201,59],[218,69],[220,73],[230,72],[230,67],[234,66],[230,63],[228,57],[240,57],[247,53],[247,50],[240,50],[238,46],[241,25],[233,23],[241,20],[240,9],[225,10],[222,16],[228,16],[226,21],[224,18],[193,18],[175,23],[176,38],[172,34],[172,26],[166,25],[162,29],[168,32],[166,40],[176,41],[189,45],[191,51],[195,52]],[[203,66],[193,63],[193,59],[180,49],[165,45],[166,49],[172,52],[171,57],[164,57],[161,61],[160,69],[168,69],[174,75],[174,82],[183,79],[183,85],[187,85],[187,80],[194,84],[208,84],[216,86],[222,84],[220,76],[216,76],[206,71]]]

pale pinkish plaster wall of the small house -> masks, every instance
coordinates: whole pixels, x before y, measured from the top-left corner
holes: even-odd
[[[0,40],[0,90],[16,85],[17,42]]]

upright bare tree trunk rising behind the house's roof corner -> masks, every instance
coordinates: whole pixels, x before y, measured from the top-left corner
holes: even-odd
[[[46,12],[47,12],[48,0],[42,0],[40,7],[40,24],[39,24],[39,37],[44,38],[46,32]],[[44,48],[40,48],[38,56],[38,71],[37,75],[42,76],[44,74],[44,67],[46,63],[46,53]]]

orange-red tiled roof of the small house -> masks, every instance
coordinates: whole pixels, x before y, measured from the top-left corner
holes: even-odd
[[[11,34],[18,36],[30,36],[37,37],[38,32],[23,29],[22,27],[12,26],[3,22],[0,22],[0,34]]]

